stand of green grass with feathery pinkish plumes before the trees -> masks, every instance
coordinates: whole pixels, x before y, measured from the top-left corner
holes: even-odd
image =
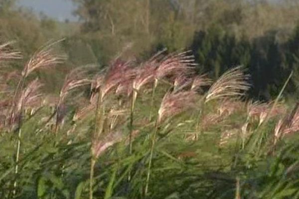
[[[34,71],[64,67],[53,44],[22,71],[0,45],[1,199],[299,197],[298,104],[247,99],[244,68],[213,82],[188,51],[118,57],[50,96]]]

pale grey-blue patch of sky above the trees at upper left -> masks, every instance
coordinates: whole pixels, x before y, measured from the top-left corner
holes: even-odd
[[[54,17],[60,21],[69,19],[71,21],[77,20],[72,15],[72,11],[76,8],[71,0],[18,0],[17,4],[29,9],[33,9],[34,12]]]

